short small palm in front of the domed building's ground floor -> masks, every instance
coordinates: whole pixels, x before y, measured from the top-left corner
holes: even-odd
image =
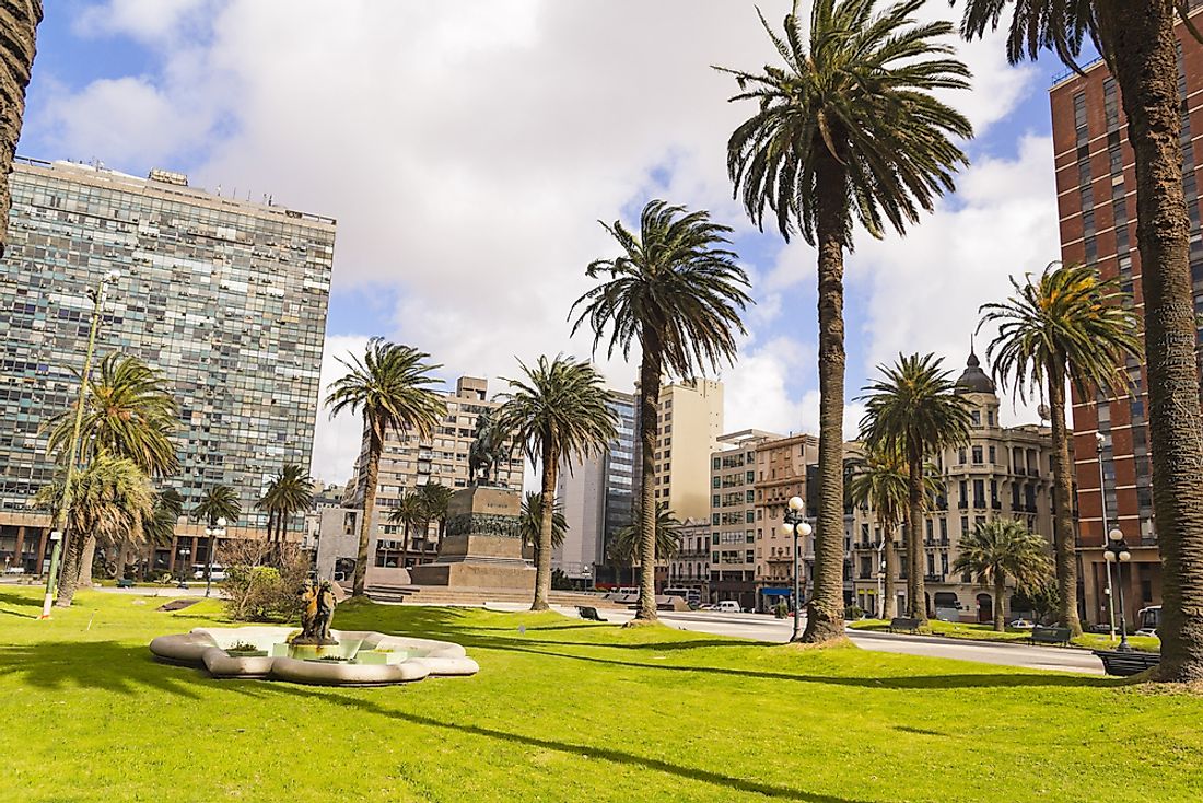
[[[982,585],[994,586],[994,628],[1005,630],[1003,601],[1007,580],[1019,590],[1035,590],[1051,574],[1045,542],[1014,519],[990,519],[964,536],[953,572],[972,574]]]

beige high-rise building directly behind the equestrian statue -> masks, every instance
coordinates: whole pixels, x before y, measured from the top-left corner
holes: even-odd
[[[454,392],[446,394],[448,412],[443,421],[428,438],[414,433],[398,436],[389,432],[384,453],[380,455],[380,473],[377,479],[375,527],[369,547],[372,563],[368,566],[369,583],[404,583],[399,571],[422,560],[434,557],[433,539],[437,533],[432,524],[428,532],[409,533],[408,549],[402,542],[402,525],[391,524],[389,514],[401,497],[426,483],[440,483],[450,489],[468,486],[468,451],[476,433],[476,418],[500,407],[500,402],[488,398],[488,380],[461,377]],[[509,442],[506,442],[509,443]],[[522,488],[525,459],[522,451],[510,444],[510,459],[497,467],[497,476],[490,482],[505,488]],[[346,508],[362,509],[366,490],[367,437],[363,438],[360,456],[355,461],[355,474],[346,486]],[[337,557],[345,557],[338,555]],[[354,556],[351,556],[354,557]]]

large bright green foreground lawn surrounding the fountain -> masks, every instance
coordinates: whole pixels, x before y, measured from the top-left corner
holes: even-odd
[[[212,680],[146,644],[218,603],[0,590],[5,801],[1190,801],[1203,698],[857,648],[800,650],[557,614],[339,607],[448,638],[474,678]],[[90,624],[90,627],[89,627]]]

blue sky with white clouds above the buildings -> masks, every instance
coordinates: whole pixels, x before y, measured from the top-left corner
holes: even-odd
[[[772,22],[787,6],[761,5]],[[179,170],[226,195],[337,217],[326,379],[331,356],[371,335],[429,350],[449,378],[510,376],[515,355],[587,355],[564,315],[588,287],[585,264],[614,253],[595,220],[648,197],[710,208],[736,226],[759,302],[723,374],[728,429],[813,429],[813,252],[753,231],[731,202],[722,146],[741,110],[724,102],[730,79],[707,69],[770,59],[752,4],[348,0],[339,11],[47,4],[19,150]],[[974,89],[952,100],[979,136],[960,191],[905,240],[861,237],[848,258],[849,421],[876,362],[936,350],[959,370],[977,305],[1057,256],[1048,87],[1062,70],[1011,69],[997,41],[964,57]],[[603,367],[616,386],[634,378],[621,361]],[[345,478],[355,433],[322,421],[318,476]]]

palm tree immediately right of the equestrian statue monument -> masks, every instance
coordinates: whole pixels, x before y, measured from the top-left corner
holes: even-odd
[[[514,433],[531,462],[543,471],[539,561],[531,610],[546,610],[551,594],[556,474],[561,462],[600,454],[617,437],[618,417],[610,407],[604,379],[588,362],[540,356],[534,367],[518,365],[525,379],[509,379],[510,392],[497,413],[497,426]],[[549,503],[550,500],[550,503]]]

